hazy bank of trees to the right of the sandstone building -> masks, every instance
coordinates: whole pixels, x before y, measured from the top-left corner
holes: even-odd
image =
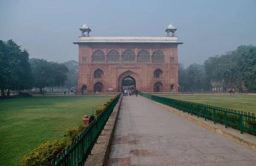
[[[209,90],[211,83],[224,87],[256,90],[256,46],[241,45],[221,56],[211,56],[204,65],[179,64],[179,85],[184,90]]]

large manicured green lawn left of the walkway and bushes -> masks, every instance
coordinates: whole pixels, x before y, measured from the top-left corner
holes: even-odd
[[[44,96],[0,100],[0,166],[17,166],[41,143],[83,124],[96,105],[113,96]]]

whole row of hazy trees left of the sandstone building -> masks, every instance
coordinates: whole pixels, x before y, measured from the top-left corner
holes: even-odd
[[[48,62],[45,59],[29,59],[26,49],[21,49],[12,39],[0,40],[0,89],[1,95],[10,90],[29,90],[33,87],[43,92],[44,87],[68,88],[78,82],[78,62]]]

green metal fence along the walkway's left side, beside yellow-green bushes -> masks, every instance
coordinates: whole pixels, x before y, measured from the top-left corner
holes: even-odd
[[[91,155],[91,150],[104,129],[109,116],[113,112],[121,93],[102,111],[101,114],[79,135],[71,145],[63,149],[57,158],[52,160],[51,166],[84,166],[84,162]]]

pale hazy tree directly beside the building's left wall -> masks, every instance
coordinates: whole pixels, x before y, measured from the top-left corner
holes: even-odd
[[[63,63],[68,68],[67,80],[65,85],[68,89],[78,84],[78,62],[75,60],[67,61]]]

